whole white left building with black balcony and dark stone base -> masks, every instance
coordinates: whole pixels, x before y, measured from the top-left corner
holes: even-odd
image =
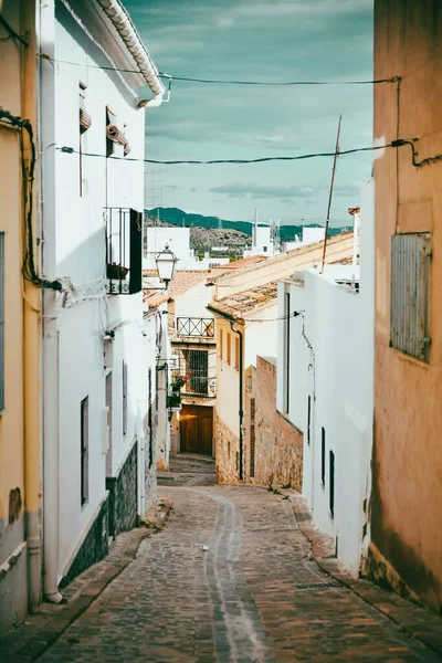
[[[103,557],[156,497],[141,478],[150,350],[138,95],[148,84],[159,105],[164,87],[117,1],[42,4],[41,53],[42,270],[62,283],[43,312],[44,589],[57,602],[60,581]]]

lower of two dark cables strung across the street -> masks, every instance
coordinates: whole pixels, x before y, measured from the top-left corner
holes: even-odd
[[[398,143],[398,141],[396,141]],[[406,143],[406,141],[403,141]],[[196,160],[196,159],[182,159],[182,160],[176,160],[176,161],[171,161],[171,160],[158,160],[158,159],[137,159],[136,157],[107,157],[106,155],[99,155],[97,152],[82,152],[83,157],[93,157],[93,158],[101,158],[101,159],[118,159],[122,161],[137,161],[137,162],[141,162],[141,164],[159,164],[162,166],[178,166],[178,165],[190,165],[190,166],[213,166],[215,164],[264,164],[267,161],[301,161],[304,159],[315,159],[317,157],[335,157],[335,155],[337,154],[339,157],[345,156],[345,155],[352,155],[356,152],[364,152],[364,151],[376,151],[379,149],[386,149],[388,147],[400,147],[400,145],[393,145],[392,143],[389,143],[388,145],[376,145],[376,146],[371,146],[371,147],[358,147],[358,148],[354,148],[354,149],[346,149],[346,150],[339,150],[338,152],[332,151],[332,152],[313,152],[313,154],[307,154],[307,155],[298,155],[298,156],[291,156],[291,157],[261,157],[259,159],[211,159],[209,161],[202,161],[202,160]],[[63,146],[63,147],[56,147],[55,149],[57,149],[59,151],[62,151],[64,154],[80,154],[78,150],[74,149],[73,147],[69,147],[69,146]]]

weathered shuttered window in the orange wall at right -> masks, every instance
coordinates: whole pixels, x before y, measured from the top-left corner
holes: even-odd
[[[429,361],[430,260],[429,233],[391,238],[390,345]]]

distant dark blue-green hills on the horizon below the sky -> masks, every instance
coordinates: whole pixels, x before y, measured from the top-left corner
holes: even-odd
[[[207,228],[210,230],[218,229],[218,217],[204,217],[202,214],[188,214],[183,210],[178,208],[154,208],[152,210],[146,210],[149,217],[156,219],[159,215],[160,221],[170,223],[170,225],[182,227],[185,221],[186,228],[199,227]],[[222,219],[223,230],[236,230],[249,236],[252,236],[253,223],[250,221],[228,221]],[[265,225],[260,223],[260,225]],[[306,228],[320,228],[319,223],[306,224]],[[295,239],[295,235],[301,235],[303,231],[302,225],[281,225],[281,240],[283,242],[290,242]],[[330,228],[329,235],[339,234],[340,228]]]

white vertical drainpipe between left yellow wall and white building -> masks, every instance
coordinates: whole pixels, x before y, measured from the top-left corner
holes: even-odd
[[[54,57],[55,8],[54,0],[40,7],[40,52]],[[40,60],[40,186],[42,273],[54,275],[55,263],[55,151],[44,151],[44,146],[55,143],[54,133],[54,71],[50,63]],[[42,183],[44,159],[44,183]],[[43,558],[44,596],[60,603],[59,592],[59,333],[56,324],[56,293],[43,292]]]

